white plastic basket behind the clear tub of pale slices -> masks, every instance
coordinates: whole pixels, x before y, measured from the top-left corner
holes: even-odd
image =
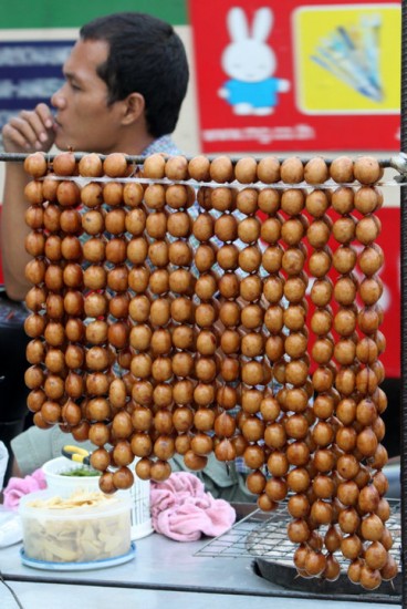
[[[129,468],[134,467],[138,461],[136,457]],[[42,471],[45,476],[46,487],[54,495],[69,497],[75,489],[100,491],[98,476],[62,476],[61,472],[83,467],[81,463],[75,463],[64,456],[48,461]],[[128,491],[118,491],[117,496],[129,496],[132,499],[132,539],[140,539],[153,533],[150,500],[149,500],[149,481],[142,481],[135,475],[134,485]]]

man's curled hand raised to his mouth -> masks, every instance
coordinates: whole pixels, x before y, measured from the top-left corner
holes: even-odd
[[[23,110],[10,118],[2,130],[4,151],[8,153],[48,152],[55,140],[54,118],[46,104],[35,110]]]

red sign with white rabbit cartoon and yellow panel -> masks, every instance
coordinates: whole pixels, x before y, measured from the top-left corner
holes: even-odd
[[[189,0],[201,149],[399,149],[400,3]]]

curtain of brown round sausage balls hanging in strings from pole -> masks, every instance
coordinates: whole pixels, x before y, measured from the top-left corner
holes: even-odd
[[[24,161],[28,406],[101,488],[241,457],[304,577],[397,574],[379,388],[383,168],[227,156]],[[305,295],[309,293],[309,299]],[[361,304],[358,304],[361,303]]]

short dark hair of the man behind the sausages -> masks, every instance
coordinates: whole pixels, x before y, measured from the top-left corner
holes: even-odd
[[[108,103],[140,93],[149,134],[173,133],[189,76],[185,48],[174,28],[149,14],[122,12],[86,23],[80,37],[109,45],[106,62],[97,69],[107,84]]]

